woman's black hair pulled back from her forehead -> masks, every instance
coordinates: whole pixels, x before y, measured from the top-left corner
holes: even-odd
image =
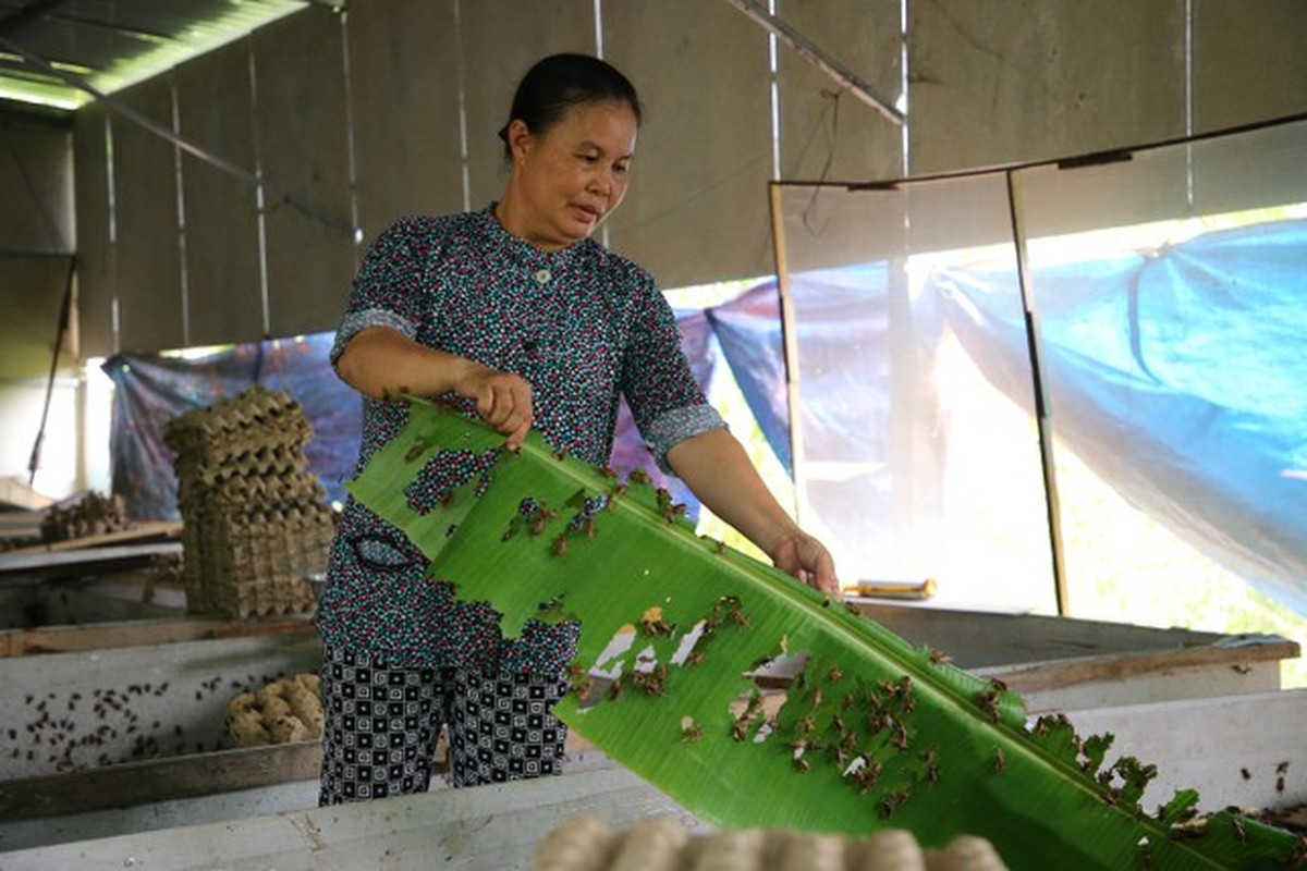
[[[616,67],[589,55],[550,55],[521,77],[508,121],[521,119],[527,129],[541,135],[561,121],[572,106],[604,101],[626,103],[635,112],[635,123],[640,123],[640,98]],[[499,138],[505,157],[512,161],[507,124],[499,131]]]

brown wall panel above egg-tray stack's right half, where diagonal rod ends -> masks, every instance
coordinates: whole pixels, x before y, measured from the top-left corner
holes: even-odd
[[[269,191],[273,336],[335,329],[354,272],[340,20],[314,8],[254,35],[259,155]]]

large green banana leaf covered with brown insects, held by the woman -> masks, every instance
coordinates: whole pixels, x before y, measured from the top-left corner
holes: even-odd
[[[537,434],[439,498],[410,484],[442,452],[497,451],[480,422],[412,400],[406,428],[349,483],[488,601],[512,636],[580,619],[574,692],[555,714],[719,827],[865,834],[928,847],[988,838],[1013,868],[1268,868],[1298,840],[1180,793],[1138,800],[1154,769],[1104,765],[1110,736],[1027,727],[1021,699],[839,601],[697,537],[665,492],[555,454]],[[759,689],[788,669],[783,689]],[[762,669],[763,676],[758,676]],[[782,704],[783,701],[783,704]],[[778,708],[779,705],[779,708]]]

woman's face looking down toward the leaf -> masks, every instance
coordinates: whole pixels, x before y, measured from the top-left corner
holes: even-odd
[[[626,195],[637,127],[620,101],[578,103],[542,135],[512,121],[510,191],[520,198],[510,230],[550,251],[588,238]]]

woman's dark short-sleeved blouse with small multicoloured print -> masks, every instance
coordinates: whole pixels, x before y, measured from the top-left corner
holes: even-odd
[[[332,363],[352,336],[376,325],[520,375],[532,387],[536,430],[587,462],[609,461],[621,396],[664,470],[674,444],[725,426],[695,384],[676,319],[648,273],[591,239],[538,249],[499,225],[494,204],[403,218],[378,236],[354,279]],[[406,420],[405,405],[363,397],[358,467]],[[410,500],[471,481],[494,452],[444,456],[421,473]],[[383,654],[392,666],[566,670],[576,623],[503,627],[516,636],[508,641],[489,605],[456,601],[447,585],[425,578],[426,568],[403,531],[349,500],[315,618],[324,642]]]

